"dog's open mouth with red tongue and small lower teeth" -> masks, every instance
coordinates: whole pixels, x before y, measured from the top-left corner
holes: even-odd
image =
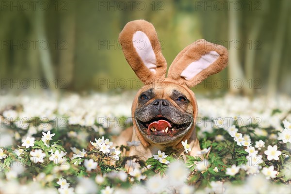
[[[191,122],[175,124],[165,117],[154,117],[153,119],[143,122],[137,120],[140,129],[147,135],[156,136],[176,136],[187,129]]]

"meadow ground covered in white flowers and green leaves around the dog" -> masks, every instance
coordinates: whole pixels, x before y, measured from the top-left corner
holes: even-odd
[[[2,96],[0,192],[290,193],[290,97],[197,97],[203,160],[169,148],[143,161],[122,156],[140,142],[112,143],[133,95]]]

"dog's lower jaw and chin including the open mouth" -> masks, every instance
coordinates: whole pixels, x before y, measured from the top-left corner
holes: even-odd
[[[154,144],[171,144],[178,142],[190,131],[194,123],[192,120],[190,122],[177,125],[167,118],[154,118],[147,122],[143,122],[135,118],[135,122],[138,130],[142,133],[145,139],[149,143]]]

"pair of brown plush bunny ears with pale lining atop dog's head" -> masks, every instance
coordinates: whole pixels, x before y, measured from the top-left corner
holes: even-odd
[[[129,65],[145,84],[164,80],[167,63],[154,26],[145,20],[127,23],[119,42]],[[227,65],[228,52],[221,45],[200,39],[183,49],[171,64],[167,81],[194,87]]]

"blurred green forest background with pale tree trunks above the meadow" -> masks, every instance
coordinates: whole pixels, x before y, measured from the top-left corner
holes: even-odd
[[[127,22],[145,19],[158,32],[168,66],[197,39],[229,50],[228,67],[195,92],[290,95],[290,2],[1,0],[1,90],[137,89],[141,83],[124,58],[118,34]]]

